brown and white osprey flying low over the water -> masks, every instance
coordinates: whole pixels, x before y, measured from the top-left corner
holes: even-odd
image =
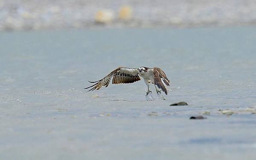
[[[108,87],[108,84],[111,81],[112,77],[113,77],[112,84],[134,83],[136,81],[140,81],[140,77],[142,77],[145,81],[145,84],[148,87],[146,96],[148,96],[148,93],[152,93],[152,91],[149,90],[149,83],[154,84],[158,95],[161,94],[161,90],[163,90],[167,95],[166,85],[170,86],[169,79],[167,78],[167,76],[163,72],[163,70],[161,70],[160,68],[157,68],[157,67],[154,67],[154,68],[118,67],[99,81],[89,81],[90,83],[95,83],[95,84],[90,86],[92,88],[88,91],[95,90],[95,89],[99,90],[102,86]],[[88,89],[90,87],[86,87],[84,89]]]

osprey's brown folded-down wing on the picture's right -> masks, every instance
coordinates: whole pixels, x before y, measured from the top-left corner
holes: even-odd
[[[166,85],[170,86],[169,79],[167,78],[166,74],[160,68],[154,67],[154,83],[157,85],[158,88],[162,89],[167,95]]]

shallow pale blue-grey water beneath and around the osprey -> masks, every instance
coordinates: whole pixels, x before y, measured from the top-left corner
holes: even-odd
[[[254,27],[1,32],[0,159],[254,159],[255,41]],[[83,89],[118,66],[162,68],[166,100],[144,81]]]

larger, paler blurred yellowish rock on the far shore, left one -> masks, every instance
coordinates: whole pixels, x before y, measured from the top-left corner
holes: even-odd
[[[95,21],[97,23],[108,23],[114,18],[114,12],[110,9],[103,9],[96,13]]]

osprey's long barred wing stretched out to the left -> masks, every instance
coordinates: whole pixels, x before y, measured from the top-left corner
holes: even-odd
[[[102,86],[108,87],[109,82],[112,80],[112,84],[119,84],[119,83],[133,83],[135,81],[140,81],[139,72],[136,68],[126,68],[126,67],[118,67],[105,76],[103,79],[99,81],[89,81],[93,84],[90,90],[99,90]],[[86,87],[84,89],[88,89],[90,87]]]

